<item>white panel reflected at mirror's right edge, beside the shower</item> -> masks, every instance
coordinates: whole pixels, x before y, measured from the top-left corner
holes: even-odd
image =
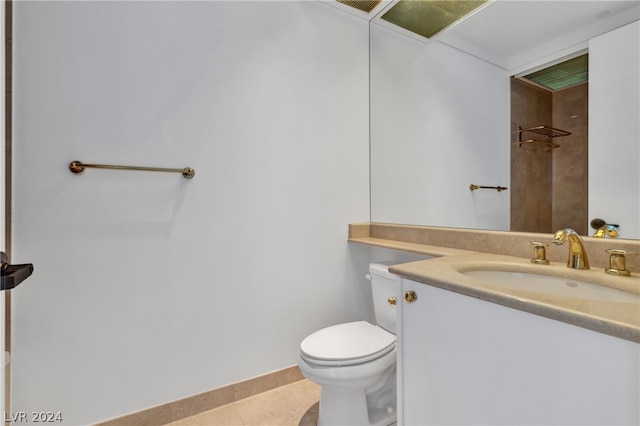
[[[640,238],[640,22],[589,41],[589,220]],[[612,66],[615,64],[615,66]]]

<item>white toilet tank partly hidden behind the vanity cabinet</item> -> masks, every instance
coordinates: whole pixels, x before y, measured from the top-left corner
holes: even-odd
[[[396,297],[396,276],[389,273],[389,265],[371,263],[369,277],[376,323],[385,330],[396,334],[396,305],[389,303],[390,297],[394,299]]]

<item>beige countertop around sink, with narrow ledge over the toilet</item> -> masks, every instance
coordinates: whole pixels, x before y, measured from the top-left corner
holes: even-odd
[[[367,235],[352,235],[349,241],[436,256],[390,267],[392,273],[404,278],[640,343],[640,274],[636,272],[628,277],[613,276],[606,274],[603,268],[593,265],[590,270],[567,268],[564,262],[552,261],[549,265],[538,265],[524,257],[372,238]],[[609,287],[613,293],[626,294],[609,300],[584,297],[585,293],[578,289],[576,297],[570,290],[551,294],[548,291],[537,291],[532,286],[505,286],[464,274],[473,270],[548,275]]]

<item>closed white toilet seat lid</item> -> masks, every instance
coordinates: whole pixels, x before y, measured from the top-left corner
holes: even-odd
[[[323,328],[300,344],[301,355],[318,365],[349,365],[381,357],[395,348],[396,336],[366,321]]]

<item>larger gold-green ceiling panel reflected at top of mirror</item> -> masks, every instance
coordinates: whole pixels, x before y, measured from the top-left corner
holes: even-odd
[[[382,19],[430,38],[484,3],[486,0],[400,0]]]

